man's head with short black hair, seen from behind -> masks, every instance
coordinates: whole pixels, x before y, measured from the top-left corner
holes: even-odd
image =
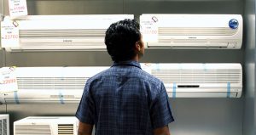
[[[136,20],[120,20],[109,26],[105,44],[114,62],[139,59],[144,46],[140,25]]]

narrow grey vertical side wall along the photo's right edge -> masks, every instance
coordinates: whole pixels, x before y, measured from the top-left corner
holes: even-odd
[[[243,135],[255,134],[255,0],[247,0],[245,5],[245,103]],[[254,119],[253,119],[254,118]]]

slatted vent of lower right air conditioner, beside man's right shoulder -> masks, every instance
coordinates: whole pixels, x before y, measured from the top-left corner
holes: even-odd
[[[177,83],[241,83],[241,70],[152,70],[152,75],[160,78],[165,84]]]

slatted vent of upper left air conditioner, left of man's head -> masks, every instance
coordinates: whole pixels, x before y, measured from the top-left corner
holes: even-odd
[[[105,37],[106,29],[20,30],[23,37]]]

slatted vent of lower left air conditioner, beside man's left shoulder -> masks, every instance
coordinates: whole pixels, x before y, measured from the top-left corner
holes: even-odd
[[[21,89],[84,89],[88,77],[17,77]]]

